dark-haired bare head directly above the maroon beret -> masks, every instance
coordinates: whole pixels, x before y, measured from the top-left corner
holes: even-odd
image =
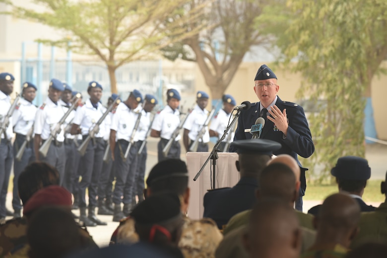
[[[19,197],[25,205],[38,190],[59,185],[59,172],[46,162],[32,162],[20,173],[17,183]]]

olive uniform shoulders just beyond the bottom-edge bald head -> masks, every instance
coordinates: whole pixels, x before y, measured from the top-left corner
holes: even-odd
[[[240,226],[246,225],[249,221],[251,211],[251,209],[248,209],[232,216],[225,228],[223,229],[223,235],[228,234],[230,231]],[[313,215],[306,214],[298,210],[295,211],[301,227],[315,230],[315,228],[313,227]]]

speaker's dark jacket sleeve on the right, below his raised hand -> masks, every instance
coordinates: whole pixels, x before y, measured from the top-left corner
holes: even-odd
[[[315,152],[315,145],[305,117],[304,109],[301,106],[286,108],[288,111],[289,127],[284,143],[292,151],[302,157],[310,157]]]

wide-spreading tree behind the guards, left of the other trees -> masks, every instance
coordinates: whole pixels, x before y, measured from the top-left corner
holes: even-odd
[[[198,33],[203,27],[192,31],[182,28],[186,23],[201,19],[198,5],[187,11],[184,6],[190,0],[35,0],[44,11],[16,6],[9,0],[10,14],[33,20],[63,32],[62,40],[50,42],[67,47],[81,54],[94,55],[106,63],[112,93],[117,93],[117,68],[125,63],[150,58],[159,49]],[[179,19],[168,23],[170,15]],[[202,24],[203,25],[203,24]],[[173,40],[172,40],[173,39]]]

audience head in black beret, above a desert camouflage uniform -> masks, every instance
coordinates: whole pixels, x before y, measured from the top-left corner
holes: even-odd
[[[173,192],[182,198],[181,209],[186,212],[190,198],[186,162],[174,158],[158,162],[150,170],[146,185],[145,197],[166,191]]]

